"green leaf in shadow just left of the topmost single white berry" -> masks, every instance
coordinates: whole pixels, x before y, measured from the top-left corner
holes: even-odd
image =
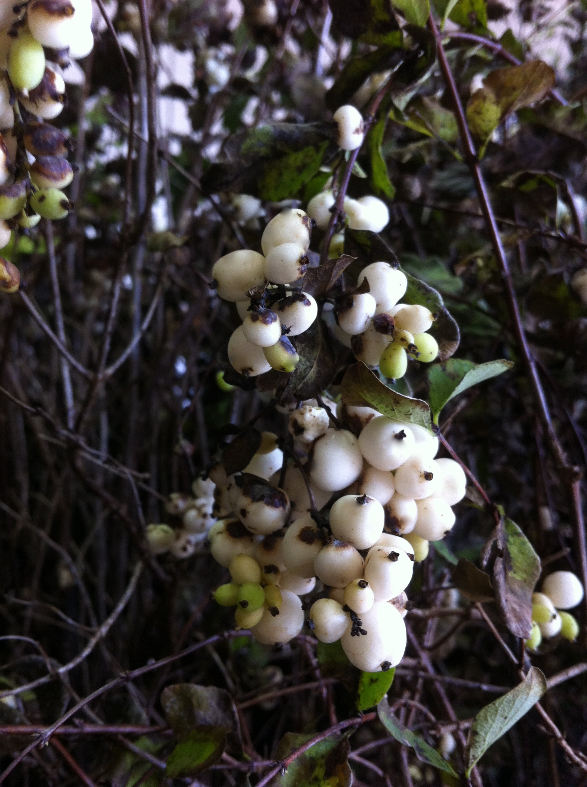
[[[321,168],[327,147],[328,142],[322,142],[266,161],[257,183],[259,197],[273,202],[294,197]]]

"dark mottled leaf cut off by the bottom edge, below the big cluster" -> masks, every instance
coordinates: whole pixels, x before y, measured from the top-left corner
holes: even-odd
[[[314,733],[285,733],[277,745],[277,761],[283,762],[312,737]],[[349,752],[346,737],[330,735],[296,757],[284,774],[270,781],[269,787],[350,787],[353,774]]]

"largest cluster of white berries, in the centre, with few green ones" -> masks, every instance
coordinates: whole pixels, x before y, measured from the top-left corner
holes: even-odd
[[[321,403],[289,412],[290,460],[264,432],[244,471],[211,468],[218,521],[207,538],[231,577],[215,598],[236,607],[237,627],[276,645],[302,630],[299,597],[319,580],[309,614],[317,639],[341,640],[361,670],[386,670],[405,650],[413,564],[453,527],[464,472],[435,460],[438,440],[421,427],[372,408]],[[349,429],[331,427],[334,408]]]

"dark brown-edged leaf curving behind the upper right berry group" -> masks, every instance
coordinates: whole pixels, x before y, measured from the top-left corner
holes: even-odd
[[[352,276],[358,276],[361,270],[372,262],[383,261],[393,265],[394,268],[399,267],[398,258],[376,232],[347,229],[344,234],[344,253],[357,257],[348,268],[348,273]],[[438,358],[446,360],[457,351],[460,340],[459,327],[450,316],[437,290],[408,272],[403,272],[408,279],[408,288],[402,297],[402,303],[426,306],[435,315],[430,333],[438,342]]]

